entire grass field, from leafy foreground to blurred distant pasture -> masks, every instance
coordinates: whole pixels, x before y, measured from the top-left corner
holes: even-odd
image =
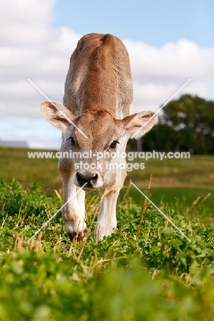
[[[1,148],[0,320],[214,320],[213,159],[150,160],[128,173],[118,228],[103,241],[91,192],[82,243],[69,242],[61,213],[28,243],[62,206],[57,160]],[[151,200],[190,241],[130,187],[146,193],[151,174]]]

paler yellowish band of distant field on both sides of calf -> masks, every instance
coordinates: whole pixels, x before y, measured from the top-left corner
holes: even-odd
[[[60,189],[62,183],[57,169],[58,160],[28,158],[29,151],[33,150],[0,147],[0,178],[10,182],[15,177],[26,188],[38,182],[45,190]],[[128,172],[126,185],[132,179],[141,187],[147,187],[152,174],[152,187],[214,189],[214,156],[164,160],[136,158],[128,162],[145,163],[145,169]]]

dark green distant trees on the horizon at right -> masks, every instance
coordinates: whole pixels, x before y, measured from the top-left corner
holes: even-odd
[[[143,137],[143,150],[214,154],[214,102],[192,95],[169,102]]]

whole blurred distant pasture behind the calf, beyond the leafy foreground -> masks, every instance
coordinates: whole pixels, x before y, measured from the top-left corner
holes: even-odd
[[[38,182],[43,191],[53,192],[56,189],[62,194],[62,182],[57,168],[58,160],[56,158],[29,159],[27,157],[28,151],[1,147],[0,178],[10,182],[15,177],[27,189],[32,187],[34,182]],[[213,212],[213,156],[191,156],[189,159],[150,159],[147,161],[135,159],[132,161],[132,163],[136,162],[145,163],[145,169],[128,172],[120,200],[126,193],[130,180],[145,191],[152,174],[150,198],[157,205],[163,202],[165,206],[175,206],[176,209],[188,212],[193,202],[198,200],[199,206],[201,204],[203,208],[209,209],[208,212]],[[206,197],[207,195],[209,196]],[[143,196],[139,195],[134,187],[130,189],[127,196],[132,197],[139,204],[143,202]]]

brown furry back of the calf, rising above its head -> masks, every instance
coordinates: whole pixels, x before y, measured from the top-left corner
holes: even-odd
[[[105,109],[117,117],[115,107],[130,106],[132,91],[128,52],[121,40],[110,34],[82,37],[71,56],[64,106],[80,114]]]

